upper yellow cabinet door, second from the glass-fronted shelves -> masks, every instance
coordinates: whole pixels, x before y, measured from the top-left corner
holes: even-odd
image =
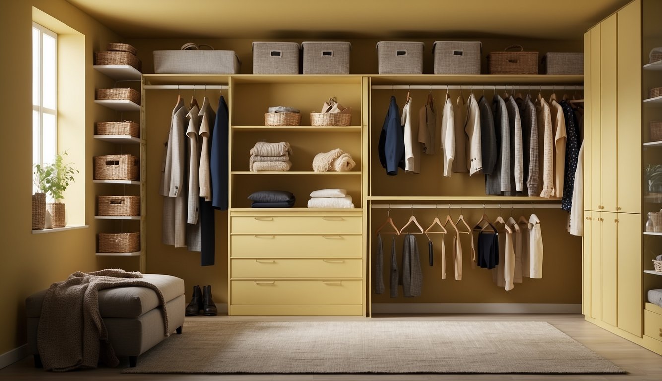
[[[600,210],[616,212],[618,15],[600,24]],[[595,136],[592,136],[595,139]],[[595,152],[593,152],[595,154]]]

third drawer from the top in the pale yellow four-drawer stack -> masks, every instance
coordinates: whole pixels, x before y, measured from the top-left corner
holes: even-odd
[[[232,278],[361,278],[361,259],[232,259]]]

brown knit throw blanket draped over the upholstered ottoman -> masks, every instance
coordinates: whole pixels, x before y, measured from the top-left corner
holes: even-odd
[[[163,293],[154,284],[137,278],[142,274],[106,269],[73,273],[67,280],[51,284],[44,295],[37,327],[37,349],[44,370],[95,368],[99,361],[117,366],[119,361],[99,312],[99,291],[106,288],[139,286],[154,290],[163,310],[164,335],[169,336]]]

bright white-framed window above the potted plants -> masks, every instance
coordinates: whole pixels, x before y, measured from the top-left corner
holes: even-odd
[[[58,35],[32,22],[32,162],[52,162],[58,149]],[[33,185],[34,187],[34,185]],[[32,190],[33,192],[36,189]]]

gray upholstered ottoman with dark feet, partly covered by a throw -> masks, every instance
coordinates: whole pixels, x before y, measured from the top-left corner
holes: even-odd
[[[170,275],[144,274],[140,280],[157,286],[166,300],[168,327],[181,333],[186,300],[184,280]],[[28,347],[34,363],[40,366],[37,350],[37,328],[46,290],[25,300]],[[159,298],[147,287],[115,287],[99,291],[99,312],[108,331],[115,355],[128,357],[129,366],[136,366],[138,356],[166,339],[164,318]]]

